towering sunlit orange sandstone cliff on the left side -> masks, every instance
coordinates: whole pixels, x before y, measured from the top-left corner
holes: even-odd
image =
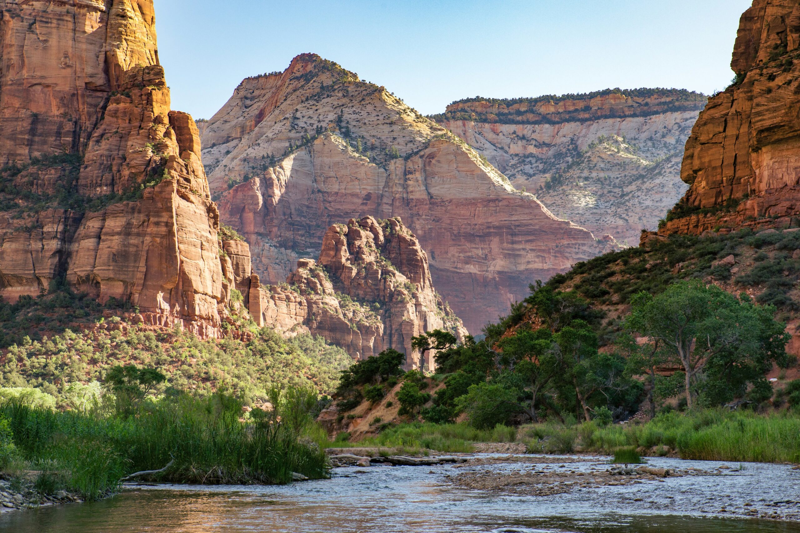
[[[218,335],[229,284],[152,0],[0,0],[0,295],[66,280]]]

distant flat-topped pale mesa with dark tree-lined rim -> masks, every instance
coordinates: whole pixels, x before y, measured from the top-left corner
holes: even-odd
[[[454,102],[433,118],[559,218],[634,245],[686,192],[680,160],[706,104],[686,90]]]

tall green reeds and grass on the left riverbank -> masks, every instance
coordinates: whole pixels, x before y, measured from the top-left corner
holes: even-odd
[[[128,415],[96,407],[54,411],[18,402],[0,405],[14,450],[6,476],[33,483],[42,494],[66,490],[84,499],[139,479],[172,483],[290,483],[293,472],[328,475],[323,451],[303,436],[312,427],[314,393],[283,395],[275,411],[243,415],[242,403],[223,394],[177,394],[148,401]]]

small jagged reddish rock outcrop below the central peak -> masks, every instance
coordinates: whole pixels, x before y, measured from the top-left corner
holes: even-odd
[[[262,286],[243,257],[246,247],[237,252],[230,244],[226,251],[240,265],[233,269],[236,287],[261,326],[287,335],[322,335],[354,359],[394,348],[406,354],[408,369],[423,363],[434,367],[433,354],[423,362],[412,349],[415,335],[435,329],[451,331],[458,339],[467,335],[434,290],[427,254],[397,218],[365,217],[330,226],[318,261],[300,259],[297,270],[278,286]]]

